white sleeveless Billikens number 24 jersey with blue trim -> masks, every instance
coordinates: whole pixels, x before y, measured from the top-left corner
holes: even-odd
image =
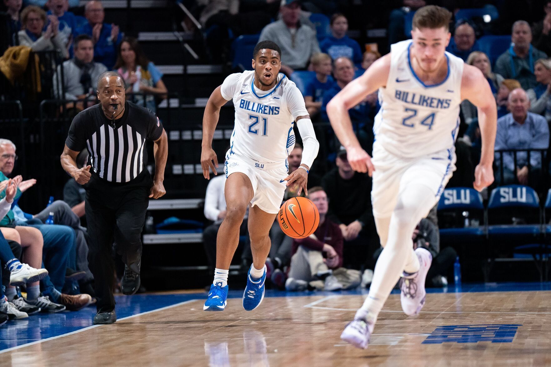
[[[445,153],[455,159],[463,60],[446,52],[446,78],[425,85],[410,62],[412,45],[407,40],[391,46],[390,72],[386,87],[379,89],[381,109],[373,127],[374,158],[376,148],[383,148],[402,158]]]

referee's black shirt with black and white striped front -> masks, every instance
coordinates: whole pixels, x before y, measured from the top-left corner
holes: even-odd
[[[73,119],[65,144],[75,152],[87,148],[88,164],[102,179],[128,182],[147,169],[145,141],[159,139],[163,125],[153,112],[128,101],[115,123],[113,128],[101,105],[89,107]]]

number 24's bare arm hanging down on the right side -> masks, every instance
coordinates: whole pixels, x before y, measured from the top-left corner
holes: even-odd
[[[482,154],[480,154],[480,163],[474,170],[473,187],[480,191],[494,182],[494,144],[498,111],[488,80],[474,66],[467,64],[464,66],[461,80],[461,98],[468,99],[478,109]]]

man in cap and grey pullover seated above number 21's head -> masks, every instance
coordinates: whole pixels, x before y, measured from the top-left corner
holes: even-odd
[[[291,75],[306,69],[310,58],[320,52],[316,31],[301,24],[300,5],[296,0],[283,0],[279,9],[281,19],[262,30],[258,42],[270,40],[281,48],[281,72]]]

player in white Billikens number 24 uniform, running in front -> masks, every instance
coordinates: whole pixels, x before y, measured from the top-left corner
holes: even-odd
[[[455,170],[454,143],[460,102],[478,107],[482,156],[474,188],[493,180],[496,106],[488,82],[475,67],[445,52],[450,41],[451,13],[426,6],[413,17],[413,40],[392,45],[358,79],[327,105],[348,161],[373,177],[371,191],[377,233],[384,247],[375,266],[368,298],[341,338],[367,348],[377,316],[401,279],[402,310],[417,315],[425,303],[425,278],[431,255],[413,250],[412,233],[439,200]],[[379,89],[381,110],[374,123],[373,158],[360,148],[347,110]]]

